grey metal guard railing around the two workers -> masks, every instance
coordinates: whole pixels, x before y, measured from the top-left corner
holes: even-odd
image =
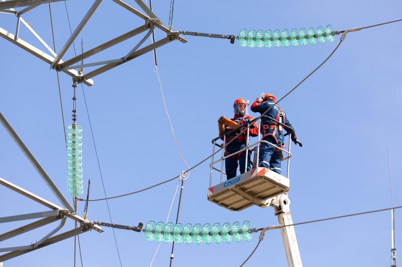
[[[270,142],[268,142],[268,141],[266,141],[266,140],[261,140],[261,130],[260,130],[260,129],[259,129],[259,131],[258,131],[257,142],[252,143],[252,144],[249,143],[249,139],[250,139],[250,138],[249,138],[249,136],[250,136],[250,126],[251,126],[254,122],[257,122],[257,121],[261,120],[261,118],[256,118],[256,119],[254,119],[254,120],[251,120],[248,124],[240,125],[240,126],[237,127],[236,129],[233,129],[233,130],[231,130],[231,131],[229,131],[229,132],[227,132],[227,133],[225,133],[225,134],[223,134],[223,135],[220,135],[220,136],[218,136],[218,137],[216,137],[216,138],[214,138],[214,139],[212,140],[212,144],[213,144],[212,154],[214,154],[214,153],[215,153],[215,147],[216,147],[216,146],[219,147],[219,148],[223,148],[223,146],[224,146],[225,143],[226,143],[226,136],[227,136],[228,134],[231,134],[231,133],[233,133],[233,132],[236,132],[236,133],[238,134],[238,133],[240,133],[241,130],[244,129],[244,127],[247,127],[247,130],[246,130],[246,147],[244,147],[243,149],[240,149],[239,151],[236,151],[236,152],[234,152],[234,153],[232,153],[232,154],[229,154],[229,155],[225,155],[225,150],[226,150],[226,149],[223,148],[223,149],[222,149],[222,156],[221,156],[218,160],[215,160],[215,161],[214,161],[214,156],[212,156],[212,158],[211,158],[211,163],[210,163],[211,171],[210,171],[210,183],[209,183],[209,187],[212,186],[213,171],[215,170],[215,171],[218,171],[218,172],[220,173],[219,182],[222,183],[223,175],[224,175],[224,174],[226,175],[226,173],[223,171],[223,166],[224,166],[224,161],[225,161],[225,159],[228,158],[228,157],[231,157],[231,156],[233,156],[233,155],[236,155],[236,154],[238,154],[238,153],[240,153],[240,152],[242,152],[242,151],[246,151],[246,153],[248,153],[248,151],[254,152],[254,159],[253,159],[253,161],[251,162],[251,165],[252,165],[253,168],[257,167],[258,164],[259,164],[259,154],[260,154],[260,146],[259,146],[259,145],[260,145],[261,143],[267,143],[267,144],[269,144],[269,145],[275,147],[276,149],[279,149],[280,151],[282,151],[282,152],[284,152],[284,153],[287,154],[286,157],[282,158],[282,161],[287,160],[286,177],[289,178],[289,164],[290,164],[290,157],[292,156],[292,154],[290,153],[290,144],[291,144],[291,143],[290,143],[290,142],[291,142],[290,135],[293,133],[293,129],[292,129],[291,127],[288,127],[288,126],[284,125],[283,123],[281,123],[281,122],[279,122],[279,121],[277,121],[277,120],[275,120],[275,119],[269,117],[269,116],[266,116],[266,115],[262,116],[262,118],[264,118],[264,117],[270,119],[270,120],[273,121],[273,122],[276,122],[278,125],[282,126],[284,129],[286,129],[286,134],[284,134],[284,136],[289,136],[289,138],[288,138],[288,144],[287,144],[287,150],[286,150],[286,149],[283,149],[283,148],[281,148],[281,147],[279,147],[279,146],[277,146],[277,145],[275,145],[275,144],[272,144],[272,143],[270,143]],[[261,126],[261,125],[260,125],[260,126]],[[217,141],[218,141],[219,139],[223,140],[223,143],[222,143],[222,144],[218,144],[218,143],[217,143]],[[248,161],[248,157],[245,157],[245,158],[246,158],[246,159],[245,159],[246,162],[245,162],[245,167],[244,167],[245,169],[244,169],[244,172],[247,171],[247,161]],[[220,169],[214,167],[214,165],[217,164],[217,163],[219,163],[219,162],[221,163]]]

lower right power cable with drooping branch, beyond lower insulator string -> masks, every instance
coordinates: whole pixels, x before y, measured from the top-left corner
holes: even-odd
[[[351,217],[351,216],[358,216],[358,215],[363,215],[363,214],[369,214],[369,213],[375,213],[375,212],[381,212],[381,211],[387,211],[387,210],[392,210],[392,209],[398,209],[402,208],[402,206],[396,206],[396,207],[390,207],[390,208],[382,208],[382,209],[374,209],[374,210],[368,210],[368,211],[363,211],[363,212],[357,212],[357,213],[351,213],[351,214],[345,214],[345,215],[340,215],[340,216],[335,216],[335,217],[328,217],[328,218],[322,218],[322,219],[315,219],[315,220],[309,220],[309,221],[303,221],[303,222],[296,222],[292,224],[285,224],[285,225],[272,225],[272,226],[267,226],[264,228],[258,228],[257,231],[261,231],[260,237],[258,240],[257,245],[254,247],[253,251],[251,254],[246,258],[246,260],[240,265],[242,267],[247,260],[250,259],[250,257],[254,254],[254,252],[257,250],[258,246],[260,245],[261,241],[264,238],[265,231],[270,230],[270,229],[280,229],[283,227],[289,227],[289,226],[296,226],[296,225],[302,225],[302,224],[309,224],[309,223],[314,223],[314,222],[320,222],[320,221],[327,221],[327,220],[334,220],[334,219],[340,219],[340,218],[346,218],[346,217]]]

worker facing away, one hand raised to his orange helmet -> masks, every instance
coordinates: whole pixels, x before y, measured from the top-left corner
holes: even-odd
[[[268,141],[280,148],[284,148],[283,128],[285,127],[283,127],[283,125],[285,125],[288,127],[285,128],[286,132],[291,132],[291,140],[296,145],[303,146],[302,142],[297,139],[293,126],[285,116],[284,110],[279,107],[278,104],[276,104],[276,98],[273,95],[265,94],[260,98],[257,98],[257,100],[251,105],[251,110],[261,114],[268,110],[261,118],[262,140]],[[262,142],[260,145],[259,166],[271,169],[272,171],[280,174],[280,152],[281,151],[278,148]]]

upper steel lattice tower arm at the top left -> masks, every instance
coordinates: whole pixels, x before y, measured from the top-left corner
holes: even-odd
[[[77,38],[83,27],[86,25],[86,23],[89,21],[95,10],[98,8],[100,5],[100,2],[102,0],[95,0],[92,6],[89,8],[77,28],[74,30],[74,32],[71,34],[71,36],[68,38],[64,46],[61,48],[61,50],[56,53],[53,51],[49,45],[43,41],[43,39],[32,29],[32,27],[27,24],[24,19],[22,18],[22,14],[25,14],[32,9],[38,7],[41,4],[44,3],[51,3],[51,2],[58,2],[62,0],[17,0],[17,1],[6,1],[6,0],[1,0],[3,2],[0,2],[0,13],[7,13],[7,14],[12,14],[17,17],[17,27],[16,27],[16,33],[12,34],[2,28],[0,28],[0,36],[5,38],[6,40],[12,42],[13,44],[21,47],[22,49],[28,51],[32,55],[42,59],[46,63],[50,64],[51,69],[54,69],[56,71],[62,71],[69,76],[73,77],[74,81],[77,81],[79,83],[84,83],[88,86],[93,85],[93,81],[91,80],[92,77],[99,75],[101,73],[104,73],[112,68],[115,68],[117,66],[120,66],[136,57],[139,57],[145,53],[148,53],[160,46],[163,46],[171,41],[178,40],[182,43],[186,43],[187,41],[183,39],[182,37],[179,36],[178,32],[173,32],[166,27],[162,25],[162,22],[159,20],[159,18],[143,3],[142,0],[135,0],[139,8],[144,12],[142,13],[141,11],[131,7],[127,3],[121,1],[121,0],[113,0],[114,3],[118,4],[119,6],[123,7],[127,11],[131,12],[133,15],[143,19],[145,21],[145,25],[140,26],[126,34],[123,34],[119,37],[116,37],[102,45],[99,45],[95,48],[92,48],[86,52],[83,52],[81,55],[76,55],[75,57],[72,57],[70,59],[67,59],[65,62],[63,62],[62,58],[65,56],[67,50],[70,48],[74,40]],[[13,8],[16,7],[25,7],[27,8],[21,10],[21,11],[15,11]],[[9,10],[8,10],[9,9]],[[22,23],[27,29],[42,43],[42,45],[51,53],[51,55],[46,54],[42,50],[36,48],[35,46],[32,46],[31,44],[25,42],[19,37],[19,29],[20,29],[20,23]],[[151,33],[154,32],[154,29],[157,28],[163,32],[166,33],[166,38],[163,38],[154,44],[150,46],[146,46],[142,49],[141,46],[143,46],[145,40],[149,37]],[[98,62],[92,62],[92,63],[86,63],[83,64],[81,63],[79,66],[73,66],[73,64],[87,59],[101,51],[104,51],[110,47],[113,47],[123,41],[126,41],[138,34],[141,34],[142,32],[148,31],[147,35],[143,37],[142,40],[140,40],[137,45],[133,46],[133,48],[130,49],[130,51],[127,51],[120,59],[107,59],[103,61],[98,61]],[[93,71],[90,71],[86,75],[80,75],[75,69],[81,68],[81,67],[92,67],[92,66],[98,66],[98,65],[105,65],[103,67],[100,67],[98,69],[95,69]]]

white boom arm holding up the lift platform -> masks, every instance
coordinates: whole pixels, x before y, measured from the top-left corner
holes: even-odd
[[[273,206],[275,209],[275,215],[278,217],[278,222],[280,225],[293,224],[289,204],[290,200],[287,197],[287,193],[277,196],[275,201],[271,202],[271,206]],[[302,258],[300,257],[300,252],[298,250],[294,227],[282,227],[280,230],[282,233],[283,245],[289,267],[302,267]]]

